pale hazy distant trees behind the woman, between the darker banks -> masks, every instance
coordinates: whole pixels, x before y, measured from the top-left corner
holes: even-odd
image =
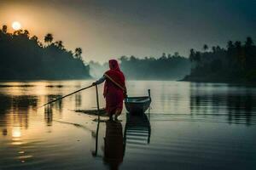
[[[145,57],[139,59],[137,57],[122,56],[119,58],[121,70],[125,73],[127,79],[181,79],[189,74],[190,63],[189,59],[174,55],[162,54],[161,57]],[[90,74],[94,77],[102,75],[103,71],[108,69],[108,64],[100,65],[90,61]],[[99,72],[101,71],[101,72]]]

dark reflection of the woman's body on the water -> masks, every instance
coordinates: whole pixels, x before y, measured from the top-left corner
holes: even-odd
[[[120,122],[106,122],[104,145],[104,162],[110,169],[118,169],[125,155],[123,129]]]

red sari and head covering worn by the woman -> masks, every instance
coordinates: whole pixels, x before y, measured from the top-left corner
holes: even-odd
[[[121,87],[125,88],[125,76],[119,69],[118,61],[110,59],[108,64],[110,69],[105,72],[105,75],[111,77],[114,82],[119,83]],[[106,98],[106,111],[108,114],[113,115],[117,110],[120,112],[123,110],[124,92],[123,89],[115,85],[108,77],[104,84],[103,95]]]

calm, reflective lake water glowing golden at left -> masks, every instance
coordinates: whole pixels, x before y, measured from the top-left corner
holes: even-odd
[[[120,123],[74,112],[95,109],[95,88],[37,110],[90,82],[0,82],[0,169],[255,169],[256,88],[127,82],[153,101]]]

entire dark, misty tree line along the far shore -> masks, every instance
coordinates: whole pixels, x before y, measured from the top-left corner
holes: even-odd
[[[181,79],[195,82],[256,82],[256,46],[251,37],[244,43],[227,42],[226,48],[203,45],[190,49],[189,59],[163,53],[156,57],[121,56],[120,66],[128,79]],[[190,60],[190,61],[189,61]],[[0,79],[74,79],[99,77],[108,69],[90,61],[85,65],[82,48],[67,50],[48,33],[43,42],[27,30],[0,29]],[[188,76],[185,76],[188,75]]]

